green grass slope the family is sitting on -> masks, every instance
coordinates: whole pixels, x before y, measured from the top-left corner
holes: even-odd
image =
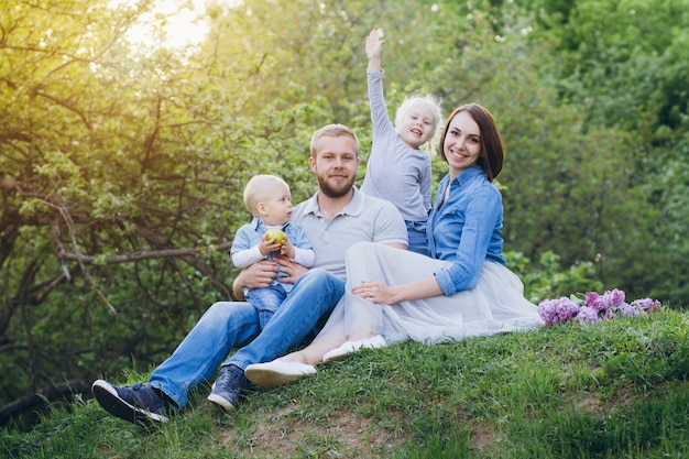
[[[232,413],[199,391],[152,430],[77,400],[0,431],[0,457],[682,458],[688,375],[689,315],[663,310],[365,350]]]

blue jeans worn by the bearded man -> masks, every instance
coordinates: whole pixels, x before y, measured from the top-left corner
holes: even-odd
[[[149,383],[183,408],[188,391],[208,381],[232,349],[240,348],[223,365],[244,369],[284,356],[293,346],[314,339],[343,294],[344,281],[324,270],[310,270],[263,331],[258,312],[249,303],[215,303],[151,373]]]

